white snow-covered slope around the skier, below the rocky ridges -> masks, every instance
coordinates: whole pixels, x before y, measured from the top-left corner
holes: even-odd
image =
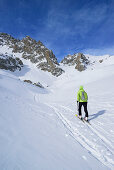
[[[81,73],[61,65],[58,78],[24,59],[21,72],[0,70],[1,170],[114,169],[114,56],[98,58]],[[91,125],[75,117],[80,85],[89,96]]]

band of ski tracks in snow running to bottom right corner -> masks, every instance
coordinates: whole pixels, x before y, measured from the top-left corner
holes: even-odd
[[[114,146],[98,131],[98,126],[94,123],[89,125],[77,120],[74,111],[69,107],[57,104],[47,105],[54,110],[64,127],[76,141],[105,166],[113,169]]]

